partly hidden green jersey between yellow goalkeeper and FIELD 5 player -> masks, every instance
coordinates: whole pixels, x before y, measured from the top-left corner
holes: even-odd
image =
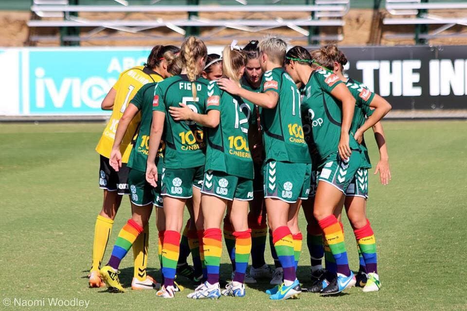
[[[152,123],[152,102],[154,99],[154,86],[157,83],[149,83],[141,87],[135,97],[130,101],[141,112],[141,123],[138,130],[138,137],[131,150],[128,159],[128,167],[140,172],[146,172],[147,154],[149,152],[149,134]],[[157,171],[162,173],[165,143],[161,140],[160,148],[157,153]]]

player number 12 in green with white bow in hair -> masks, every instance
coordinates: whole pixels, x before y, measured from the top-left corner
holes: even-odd
[[[224,48],[222,71],[240,85],[247,56],[236,42]],[[201,206],[204,217],[207,281],[198,286],[193,299],[218,298],[219,264],[222,251],[222,218],[226,208],[233,226],[235,273],[223,295],[245,296],[245,274],[251,251],[248,228],[248,201],[253,199],[253,161],[248,144],[249,124],[255,121],[254,105],[222,91],[211,81],[208,86],[207,114],[171,107],[175,120],[191,120],[207,127],[207,150]]]

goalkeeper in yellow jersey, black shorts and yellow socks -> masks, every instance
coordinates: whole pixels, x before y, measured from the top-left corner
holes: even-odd
[[[138,130],[140,115],[138,114],[130,122],[120,145],[123,163],[119,172],[115,172],[108,163],[117,125],[126,106],[142,86],[148,83],[160,82],[169,76],[167,61],[164,59],[164,51],[167,50],[164,46],[157,45],[152,49],[144,66],[137,66],[123,71],[101,105],[104,110],[112,110],[112,115],[96,147],[96,151],[100,156],[99,187],[104,190],[104,202],[102,210],[97,215],[94,229],[92,266],[89,278],[90,287],[105,285],[99,276],[99,269],[122,197],[124,194],[130,193],[127,183],[128,168],[126,163],[131,152],[132,139]],[[157,285],[150,276],[146,276],[148,238],[149,230],[146,225],[144,234],[141,234],[133,244],[135,258],[133,289],[153,289]]]

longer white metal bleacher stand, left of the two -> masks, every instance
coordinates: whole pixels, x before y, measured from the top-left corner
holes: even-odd
[[[78,0],[33,0],[32,17],[27,23],[32,29],[29,42],[34,44],[57,39],[57,35],[40,34],[39,28],[58,28],[65,45],[108,39],[147,40],[148,36],[151,39],[181,41],[184,36],[192,34],[209,42],[237,37],[238,31],[257,37],[258,33],[266,34],[281,28],[295,32],[295,37],[292,35],[290,39],[305,37],[309,43],[340,41],[343,38],[343,17],[350,8],[350,0],[292,1],[294,4],[281,0],[233,0],[227,4],[223,1],[222,5],[203,4],[200,0],[187,0],[186,4],[169,1],[171,4],[167,5],[161,2],[153,0],[134,5],[123,0],[99,1],[103,4],[78,4]],[[158,16],[154,18],[154,15]],[[162,28],[159,34],[148,32],[159,28]],[[324,28],[332,30],[321,32]],[[226,29],[237,32],[226,33]],[[104,30],[114,32],[102,35]],[[126,35],[122,36],[122,33]]]

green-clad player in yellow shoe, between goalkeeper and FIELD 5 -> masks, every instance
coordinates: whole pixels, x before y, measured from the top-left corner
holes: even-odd
[[[162,71],[163,78],[167,78],[177,71],[180,72],[176,66],[173,66],[175,54],[179,51],[180,49],[174,46],[163,46],[161,48],[160,58],[163,57],[165,60],[162,64],[164,68]],[[115,140],[109,157],[110,166],[118,172],[122,167],[120,144],[122,143],[130,122],[138,113],[141,113],[141,122],[137,133],[138,136],[136,138],[135,146],[131,150],[127,164],[127,167],[129,168],[128,185],[131,192],[130,202],[132,216],[122,230],[120,230],[107,265],[100,269],[100,275],[109,287],[110,292],[124,292],[123,286],[120,284],[120,280],[117,276],[120,262],[140,235],[145,235],[144,240],[149,238],[148,232],[146,231],[144,233],[143,231],[144,227],[147,227],[152,207],[153,205],[156,207],[162,207],[160,188],[151,187],[151,185],[149,185],[145,180],[149,129],[152,120],[151,104],[154,97],[155,85],[156,83],[144,85],[136,93],[135,97],[131,99],[117,126]],[[135,133],[132,133],[132,135],[134,134]],[[161,167],[162,160],[160,160],[160,158],[163,157],[163,148],[164,143],[162,142],[157,159],[157,163]],[[158,230],[163,230],[164,224],[162,208],[157,209],[156,222]],[[144,260],[147,262],[147,244],[143,252]],[[145,274],[145,271],[141,271],[140,273]],[[157,282],[155,282],[150,276],[147,276],[144,281],[135,282],[135,280],[133,280],[132,282],[132,288],[138,289],[153,289],[156,285],[159,284],[157,284]]]

